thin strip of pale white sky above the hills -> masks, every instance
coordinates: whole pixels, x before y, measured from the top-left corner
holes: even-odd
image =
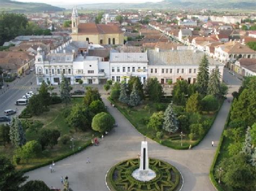
[[[47,3],[50,5],[78,5],[78,4],[91,4],[91,3],[144,3],[144,2],[160,2],[161,0],[126,0],[126,1],[120,1],[120,0],[18,0],[20,2],[35,2],[35,3]]]

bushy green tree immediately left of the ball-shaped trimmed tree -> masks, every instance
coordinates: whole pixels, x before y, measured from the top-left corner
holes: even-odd
[[[91,113],[89,108],[78,104],[73,106],[66,121],[71,127],[75,128],[76,131],[77,129],[85,131],[91,127]]]

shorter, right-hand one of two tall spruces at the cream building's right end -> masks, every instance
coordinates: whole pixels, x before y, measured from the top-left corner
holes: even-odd
[[[214,95],[214,97],[219,97],[220,92],[221,92],[221,86],[220,86],[220,72],[219,72],[219,67],[216,66],[215,70],[210,75],[210,80],[208,83],[208,88],[207,88],[207,94],[208,95]]]

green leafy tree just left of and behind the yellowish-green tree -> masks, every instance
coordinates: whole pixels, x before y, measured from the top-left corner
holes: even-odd
[[[177,83],[173,86],[172,97],[173,103],[177,105],[185,105],[186,98],[185,95],[188,94],[188,84],[186,80],[178,80]]]

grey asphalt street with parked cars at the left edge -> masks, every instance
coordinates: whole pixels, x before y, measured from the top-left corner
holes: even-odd
[[[9,87],[4,87],[0,90],[0,115],[4,115],[5,110],[16,110],[18,108],[18,114],[24,109],[25,106],[16,106],[15,102],[21,99],[26,92],[36,90],[36,77],[34,76],[35,71],[30,72],[29,75],[16,79],[8,84]],[[32,85],[30,84],[32,82]],[[12,115],[14,116],[14,115]]]

